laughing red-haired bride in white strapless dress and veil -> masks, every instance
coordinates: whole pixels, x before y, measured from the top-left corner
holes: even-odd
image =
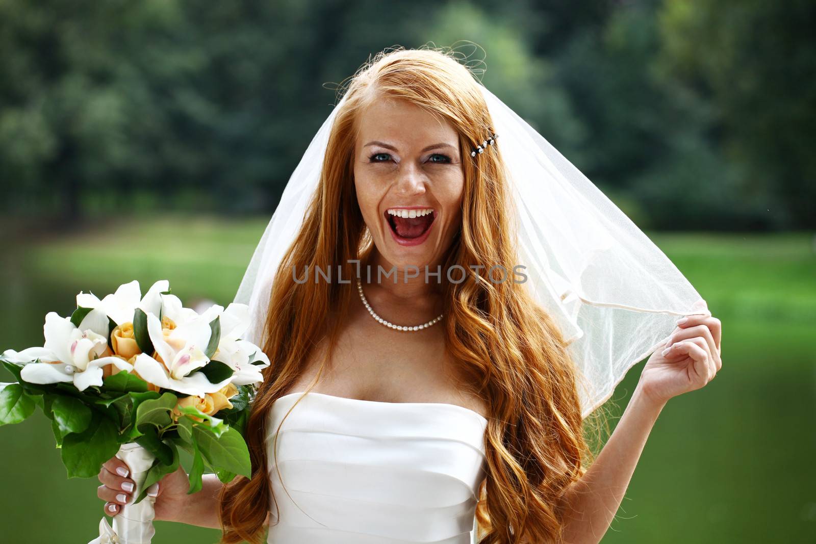
[[[721,368],[721,324],[576,172],[454,55],[377,55],[236,298],[272,361],[253,475],[187,495],[180,467],[156,519],[224,543],[600,542],[663,406]],[[587,417],[645,356],[595,457]],[[106,514],[127,476],[100,471]]]

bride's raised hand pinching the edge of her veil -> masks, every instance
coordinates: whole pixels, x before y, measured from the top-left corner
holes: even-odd
[[[699,304],[707,307],[704,300]],[[722,324],[716,317],[688,316],[678,322],[665,347],[646,361],[637,387],[665,404],[673,396],[705,386],[722,367],[721,337]]]

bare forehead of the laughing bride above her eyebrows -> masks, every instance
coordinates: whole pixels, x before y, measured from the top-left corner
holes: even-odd
[[[443,117],[436,117],[416,104],[392,97],[380,97],[363,109],[357,119],[358,144],[370,139],[403,144],[424,143],[456,146],[459,142],[454,126]]]

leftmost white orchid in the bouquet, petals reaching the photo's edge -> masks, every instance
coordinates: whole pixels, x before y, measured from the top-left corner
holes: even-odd
[[[22,352],[6,350],[3,356],[24,365],[20,369],[20,378],[26,382],[73,382],[79,391],[85,391],[92,385],[102,385],[104,365],[113,363],[118,369],[128,372],[133,369],[126,360],[104,356],[109,352],[107,329],[107,317],[100,310],[88,312],[80,328],[73,326],[69,317],[48,312],[43,326],[43,347],[29,347]],[[100,334],[99,330],[104,334]]]

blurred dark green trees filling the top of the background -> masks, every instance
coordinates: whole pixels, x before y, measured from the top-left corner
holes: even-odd
[[[814,16],[807,0],[2,0],[0,206],[269,212],[339,84],[387,46],[432,44],[641,227],[813,228]]]

